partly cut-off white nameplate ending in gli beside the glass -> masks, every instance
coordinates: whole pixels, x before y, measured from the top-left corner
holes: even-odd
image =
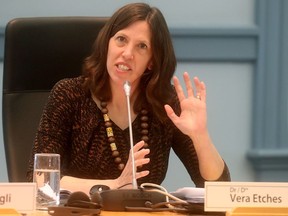
[[[0,208],[12,208],[18,212],[36,209],[35,183],[0,183]]]

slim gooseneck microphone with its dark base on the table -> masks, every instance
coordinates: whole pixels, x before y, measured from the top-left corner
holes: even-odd
[[[147,208],[148,205],[166,202],[166,196],[144,188],[138,189],[136,180],[136,166],[133,152],[133,131],[130,109],[130,91],[131,84],[125,81],[123,89],[126,95],[128,121],[129,121],[129,138],[130,154],[132,161],[132,187],[133,189],[111,189],[100,192],[102,198],[102,209],[106,211],[139,211],[139,208]],[[148,209],[148,208],[147,208]]]

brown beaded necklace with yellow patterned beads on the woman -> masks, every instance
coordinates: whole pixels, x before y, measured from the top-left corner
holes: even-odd
[[[105,127],[106,127],[106,134],[107,134],[107,140],[108,143],[110,145],[111,148],[111,152],[112,152],[112,157],[114,158],[114,162],[117,164],[117,167],[119,170],[123,170],[125,165],[122,162],[122,159],[120,157],[120,153],[117,149],[117,145],[116,145],[116,140],[114,137],[114,133],[113,133],[113,128],[112,128],[112,122],[108,116],[108,108],[107,108],[107,102],[101,101],[100,102],[100,106],[101,106],[101,112],[103,114],[103,119],[105,122]],[[146,109],[142,109],[140,112],[140,119],[141,119],[141,139],[145,142],[144,144],[144,148],[148,148],[148,128],[149,128],[149,124],[148,124],[148,111]]]

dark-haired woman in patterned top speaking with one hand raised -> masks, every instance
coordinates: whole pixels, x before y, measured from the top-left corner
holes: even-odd
[[[131,119],[138,184],[161,184],[172,148],[198,187],[206,180],[230,180],[213,145],[206,114],[206,88],[187,97],[173,77],[175,54],[162,13],[144,3],[114,13],[99,33],[80,77],[64,79],[51,91],[27,173],[32,180],[36,152],[61,155],[61,187],[88,192],[93,185],[129,186],[129,125],[123,83],[131,84]],[[173,79],[174,86],[171,85]]]

